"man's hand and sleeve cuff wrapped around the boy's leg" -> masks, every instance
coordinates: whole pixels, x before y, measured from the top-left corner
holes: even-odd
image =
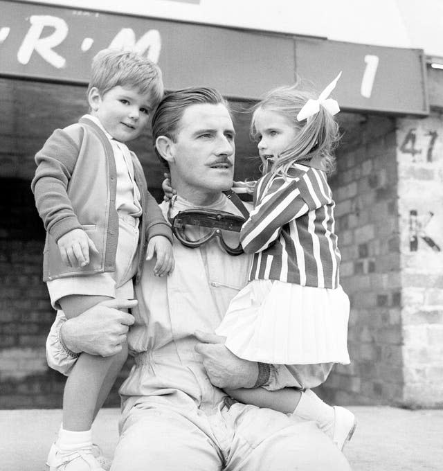
[[[93,306],[66,321],[59,312],[46,340],[46,358],[51,368],[67,375],[78,353],[109,357],[122,349],[134,317],[119,309],[134,308],[137,301],[112,299]]]

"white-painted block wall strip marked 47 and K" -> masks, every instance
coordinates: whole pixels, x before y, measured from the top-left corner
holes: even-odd
[[[443,407],[443,116],[397,128],[403,403]]]

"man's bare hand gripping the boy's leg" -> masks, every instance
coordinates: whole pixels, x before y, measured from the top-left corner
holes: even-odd
[[[75,353],[102,357],[115,355],[122,349],[129,326],[134,323],[134,316],[119,309],[136,305],[135,299],[111,299],[93,306],[62,325],[64,344]]]

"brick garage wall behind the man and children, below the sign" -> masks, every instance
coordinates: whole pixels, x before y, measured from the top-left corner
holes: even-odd
[[[232,105],[235,177],[257,177],[248,104]],[[0,79],[0,107],[0,408],[60,407],[64,377],[44,357],[54,312],[41,281],[44,231],[30,179],[46,137],[86,112],[84,87]],[[443,118],[341,113],[338,119],[343,139],[330,181],[341,283],[352,306],[352,364],[336,366],[320,393],[343,405],[442,405],[443,260],[426,237],[443,249]],[[161,197],[164,169],[149,132],[131,146]],[[416,250],[410,249],[411,227]],[[129,366],[107,405],[118,405],[116,389]]]

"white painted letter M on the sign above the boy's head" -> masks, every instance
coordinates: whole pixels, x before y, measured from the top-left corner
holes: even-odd
[[[122,28],[109,44],[111,49],[136,51],[146,55],[152,62],[159,62],[161,38],[158,30],[149,30],[138,41],[132,28]]]

